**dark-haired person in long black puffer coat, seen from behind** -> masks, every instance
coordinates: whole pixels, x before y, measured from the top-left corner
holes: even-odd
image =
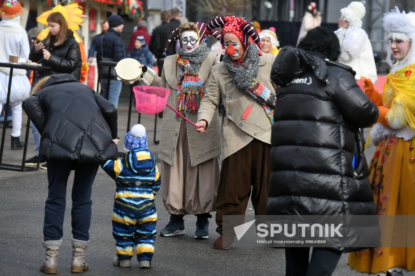
[[[352,68],[333,62],[339,53],[335,34],[317,27],[298,48],[284,47],[273,64],[278,89],[267,215],[376,215],[367,164],[357,176],[352,162],[356,132],[375,123],[378,109],[356,84]],[[339,252],[348,249],[321,248],[314,248],[317,257],[308,269],[331,275]],[[300,249],[286,248],[287,275],[307,271],[299,259],[308,265],[308,248]]]

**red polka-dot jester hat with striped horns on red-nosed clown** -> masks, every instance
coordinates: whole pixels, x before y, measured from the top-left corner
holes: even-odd
[[[239,38],[239,40],[244,44],[244,54],[246,53],[248,45],[250,43],[249,37],[251,37],[254,40],[256,46],[258,46],[258,48],[262,50],[261,39],[259,39],[258,31],[256,31],[254,24],[252,24],[252,22],[248,19],[245,19],[244,17],[237,17],[234,15],[222,15],[215,17],[207,23],[207,29],[209,31],[219,27],[222,27],[222,48],[224,48],[223,35],[226,33],[232,33],[236,35]],[[259,51],[258,55],[262,56],[262,52]]]

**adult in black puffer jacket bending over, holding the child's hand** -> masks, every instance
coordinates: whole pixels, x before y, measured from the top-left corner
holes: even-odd
[[[23,109],[41,133],[40,154],[48,161],[48,197],[43,226],[45,273],[56,273],[62,243],[66,185],[75,170],[72,188],[72,272],[88,270],[91,191],[100,163],[118,157],[117,109],[72,75],[44,77],[25,99]]]

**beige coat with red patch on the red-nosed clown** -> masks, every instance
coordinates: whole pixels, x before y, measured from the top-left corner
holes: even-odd
[[[264,53],[259,58],[259,71],[256,77],[271,91],[275,91],[270,79],[275,58],[274,55]],[[209,133],[211,126],[214,126],[214,115],[222,98],[226,110],[226,118],[222,126],[222,159],[236,153],[254,138],[271,144],[271,123],[262,105],[237,88],[223,62],[213,67],[211,74],[206,95],[200,103],[198,121],[205,119],[209,123],[206,129]],[[244,120],[242,116],[248,107],[252,109]]]

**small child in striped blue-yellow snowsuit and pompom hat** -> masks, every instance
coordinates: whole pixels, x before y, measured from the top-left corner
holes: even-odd
[[[160,172],[153,154],[147,149],[144,126],[135,125],[124,139],[127,152],[121,159],[102,165],[115,180],[112,236],[117,257],[115,266],[131,267],[134,247],[140,268],[149,268],[156,239],[156,202],[160,189]]]

